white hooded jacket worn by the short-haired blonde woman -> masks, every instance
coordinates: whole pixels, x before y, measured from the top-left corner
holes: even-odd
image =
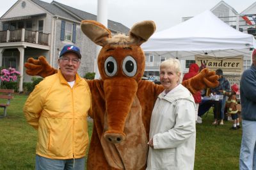
[[[196,128],[195,102],[191,93],[179,84],[154,105],[150,121],[147,169],[193,169]]]

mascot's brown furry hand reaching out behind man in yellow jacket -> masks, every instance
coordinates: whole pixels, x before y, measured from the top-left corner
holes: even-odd
[[[26,73],[28,75],[47,77],[58,72],[58,70],[52,68],[52,66],[47,63],[44,56],[40,56],[38,59],[29,58],[28,63],[25,63],[24,66],[27,68]]]

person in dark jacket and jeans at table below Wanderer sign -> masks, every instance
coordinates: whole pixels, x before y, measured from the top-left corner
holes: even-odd
[[[225,77],[223,77],[223,71],[219,68],[215,72],[216,72],[216,75],[219,75],[219,77],[220,77],[220,79],[218,79],[220,84],[218,87],[212,88],[211,93],[213,93],[213,95],[222,95],[220,90],[230,92],[230,84],[229,84],[228,80]],[[220,125],[224,125],[223,119],[224,119],[224,109],[225,109],[226,100],[227,100],[227,97],[223,96],[223,100],[221,100]],[[215,121],[212,124],[216,125],[216,123],[217,123],[217,115],[216,114],[214,114],[214,119],[215,119]]]

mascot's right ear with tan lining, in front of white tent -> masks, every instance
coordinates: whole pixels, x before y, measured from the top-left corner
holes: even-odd
[[[144,20],[132,26],[130,30],[130,38],[138,45],[147,42],[148,38],[156,31],[156,24],[152,20]]]

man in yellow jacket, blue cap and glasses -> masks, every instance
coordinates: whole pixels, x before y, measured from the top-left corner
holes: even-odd
[[[58,73],[40,82],[24,105],[28,123],[38,130],[36,169],[84,169],[92,96],[77,74],[80,59],[78,47],[65,45]]]

